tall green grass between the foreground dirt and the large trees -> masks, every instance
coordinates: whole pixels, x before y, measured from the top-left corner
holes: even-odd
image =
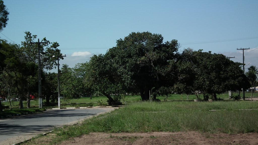
[[[218,110],[221,111],[209,111]],[[55,133],[63,138],[89,132],[258,132],[257,102],[135,102],[108,114],[66,126]]]

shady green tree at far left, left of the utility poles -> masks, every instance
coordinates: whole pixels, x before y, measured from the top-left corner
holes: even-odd
[[[0,44],[1,53],[5,55],[4,60],[4,79],[5,82],[13,82],[20,96],[20,108],[23,108],[22,98],[26,91],[34,87],[31,82],[36,74],[37,66],[35,63],[27,62],[21,59],[19,46],[2,41]],[[10,81],[7,81],[10,80]],[[35,80],[35,79],[34,79]],[[10,83],[6,84],[7,88]]]

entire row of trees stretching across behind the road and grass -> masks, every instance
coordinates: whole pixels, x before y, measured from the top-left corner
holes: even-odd
[[[37,36],[27,31],[25,34],[21,46],[4,40],[0,44],[1,97],[10,100],[15,94],[20,98],[20,108],[23,98],[27,98],[30,107],[30,95],[38,95],[38,48],[30,43]],[[42,94],[46,104],[50,104],[57,101],[57,74],[46,70],[56,68],[56,58],[52,56],[62,54],[57,42],[50,43],[46,38],[42,42],[47,42],[40,48]],[[256,74],[252,76],[255,80],[250,77],[251,71],[244,75],[241,63],[202,50],[188,48],[179,52],[179,47],[177,40],[163,42],[160,34],[133,32],[117,40],[117,45],[105,54],[93,55],[89,62],[78,63],[74,68],[63,65],[61,94],[65,98],[79,98],[99,92],[111,104],[126,93],[140,94],[141,100],[148,100],[150,92],[154,100],[157,95],[170,93],[195,94],[197,99],[202,94],[205,100],[217,100],[216,94],[255,85]]]

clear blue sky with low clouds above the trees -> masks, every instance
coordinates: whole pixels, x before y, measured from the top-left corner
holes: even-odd
[[[4,0],[4,4],[10,14],[2,39],[21,44],[24,32],[30,31],[39,39],[58,42],[67,55],[60,64],[69,67],[106,53],[117,39],[138,31],[161,34],[164,41],[177,39],[181,50],[203,49],[236,57],[231,60],[238,62],[243,54],[236,49],[250,48],[245,62],[258,66],[257,0]],[[223,42],[206,43],[217,40]]]

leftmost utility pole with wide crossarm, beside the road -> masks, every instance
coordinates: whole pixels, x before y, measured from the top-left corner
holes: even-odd
[[[38,107],[42,108],[42,91],[41,91],[41,61],[40,61],[40,44],[44,44],[47,42],[31,42],[31,44],[38,44]]]

